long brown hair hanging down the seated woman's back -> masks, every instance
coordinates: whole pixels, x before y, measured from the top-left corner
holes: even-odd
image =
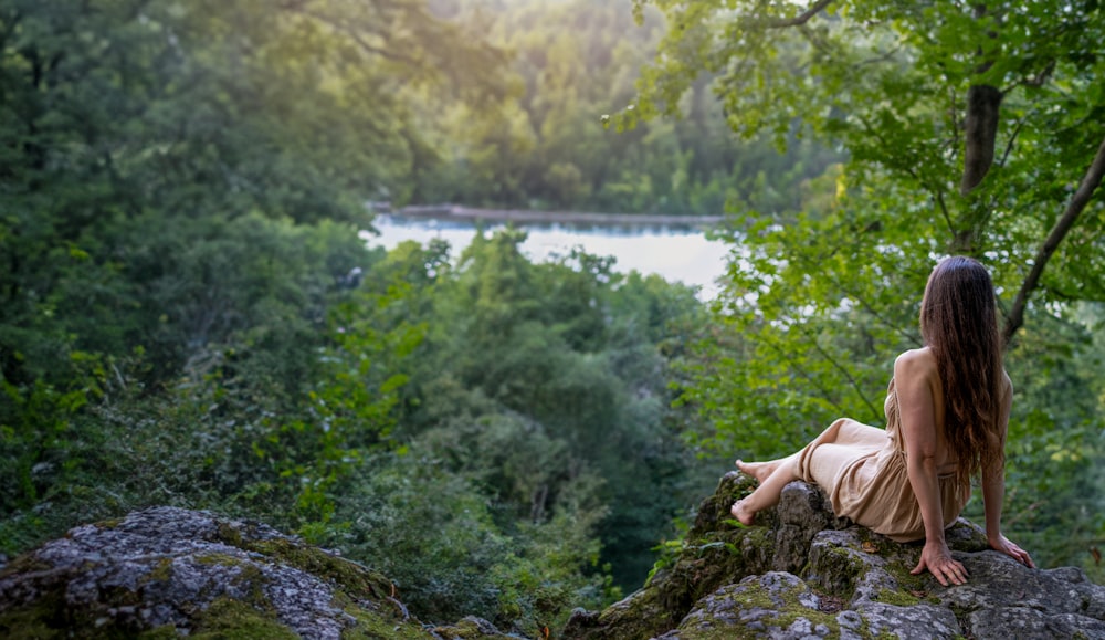
[[[920,303],[920,336],[936,356],[944,387],[945,432],[958,480],[1003,460],[1004,368],[993,283],[977,260],[954,255],[936,265]]]

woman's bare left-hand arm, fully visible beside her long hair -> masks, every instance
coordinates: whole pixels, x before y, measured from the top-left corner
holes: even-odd
[[[937,479],[937,434],[935,385],[940,384],[936,361],[928,352],[906,352],[894,363],[894,386],[897,389],[905,438],[906,471],[917,496],[920,517],[925,523],[925,548],[914,575],[926,568],[944,586],[950,581],[967,581],[967,569],[951,557],[944,538],[944,508]]]

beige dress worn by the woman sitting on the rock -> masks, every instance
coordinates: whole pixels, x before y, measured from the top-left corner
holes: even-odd
[[[909,484],[905,439],[894,380],[886,391],[886,430],[841,418],[798,455],[802,480],[824,489],[833,512],[897,542],[925,537],[917,497]],[[944,526],[959,517],[970,484],[959,486],[955,474],[939,476]]]

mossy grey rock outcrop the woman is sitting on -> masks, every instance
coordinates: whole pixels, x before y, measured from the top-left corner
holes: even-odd
[[[801,482],[757,516],[761,526],[735,526],[729,505],[754,485],[737,472],[723,478],[644,588],[604,611],[576,611],[564,637],[1105,639],[1105,587],[1081,569],[1029,569],[960,518],[948,544],[970,578],[941,587],[909,574],[919,544],[836,518]]]

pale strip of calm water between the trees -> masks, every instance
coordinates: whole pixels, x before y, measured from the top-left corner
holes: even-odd
[[[469,221],[400,216],[378,216],[372,225],[380,234],[366,234],[370,245],[392,249],[404,240],[424,244],[440,238],[449,242],[454,258],[469,245],[476,232],[474,223]],[[504,227],[495,222],[482,225],[485,233]],[[564,255],[579,246],[594,255],[613,256],[614,270],[621,273],[655,273],[670,282],[696,286],[701,300],[712,300],[717,295],[716,280],[725,273],[729,253],[725,243],[707,240],[701,229],[683,225],[546,223],[520,228],[528,234],[522,250],[532,261]]]

